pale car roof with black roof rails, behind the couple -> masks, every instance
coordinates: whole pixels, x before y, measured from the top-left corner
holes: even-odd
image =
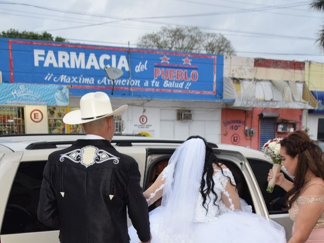
[[[56,143],[57,147],[61,147],[60,144],[65,145],[63,147],[69,146],[72,141],[77,139],[83,139],[85,137],[84,134],[24,134],[24,135],[14,135],[14,136],[0,136],[0,151],[9,152],[9,151],[25,151],[29,149],[39,149],[42,147],[33,147],[29,149],[26,147],[30,146],[30,144],[39,145],[37,143]],[[160,138],[150,138],[144,136],[137,135],[114,135],[112,143],[123,142],[125,144],[117,145],[117,146],[145,146],[145,147],[170,147],[176,148],[181,142],[181,140],[174,139],[160,139]],[[65,143],[67,142],[67,143]],[[132,143],[132,144],[130,144]],[[212,144],[215,145],[215,144]],[[229,151],[237,151],[242,153],[247,158],[256,158],[271,161],[267,158],[264,153],[261,151],[231,145],[231,144],[217,144],[214,147],[218,147],[218,149],[229,150]],[[217,149],[217,148],[216,148]]]

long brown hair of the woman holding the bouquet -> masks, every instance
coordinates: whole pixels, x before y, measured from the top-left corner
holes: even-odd
[[[281,147],[292,158],[298,155],[294,187],[287,193],[287,208],[290,209],[308,182],[305,178],[308,171],[324,180],[324,161],[321,158],[321,149],[304,131],[293,132],[282,139]]]

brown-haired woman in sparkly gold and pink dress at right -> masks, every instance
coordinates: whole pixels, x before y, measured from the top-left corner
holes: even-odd
[[[294,221],[288,243],[324,242],[324,161],[321,149],[303,131],[281,141],[281,164],[294,183],[276,174],[276,184],[287,193],[287,209]],[[273,174],[270,170],[268,181]]]

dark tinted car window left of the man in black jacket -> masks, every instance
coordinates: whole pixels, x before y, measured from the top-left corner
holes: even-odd
[[[20,163],[2,224],[1,234],[52,230],[37,220],[37,206],[46,161]]]

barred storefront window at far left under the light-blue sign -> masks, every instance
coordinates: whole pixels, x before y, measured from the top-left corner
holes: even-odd
[[[24,133],[24,107],[0,106],[0,135]]]

